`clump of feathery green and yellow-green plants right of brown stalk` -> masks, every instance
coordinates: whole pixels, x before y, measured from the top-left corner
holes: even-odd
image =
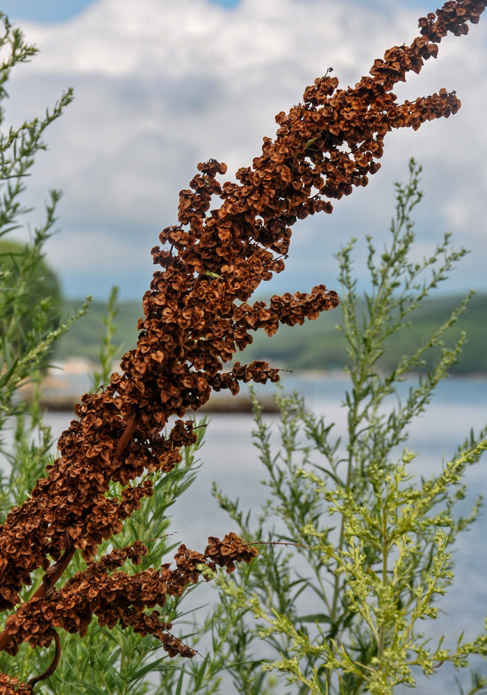
[[[479,513],[480,498],[468,516],[455,514],[455,505],[465,496],[465,471],[487,448],[487,430],[465,441],[429,478],[409,472],[416,454],[406,448],[409,425],[459,357],[465,336],[452,347],[443,341],[468,298],[393,370],[377,369],[388,338],[396,332],[406,336],[411,313],[465,254],[451,250],[445,235],[429,258],[410,260],[411,215],[422,196],[419,174],[411,161],[408,183],[396,186],[388,247],[377,254],[368,238],[365,313],[358,311],[354,240],[338,254],[339,329],[349,354],[346,436],[334,436],[329,418],[309,412],[299,395],[278,395],[275,448],[272,426],[254,398],[254,437],[270,498],[254,520],[255,514],[242,511],[215,486],[242,537],[269,543],[238,578],[217,578],[220,603],[209,624],[225,635],[224,626],[232,626],[224,661],[239,693],[270,692],[263,666],[283,673],[295,684],[292,692],[302,695],[386,695],[400,683],[412,687],[418,669],[434,677],[445,662],[463,668],[469,655],[487,653],[484,632],[472,641],[460,635],[449,647],[443,638],[428,640],[422,632],[423,621],[438,616],[438,601],[452,582],[454,543]],[[439,350],[434,368],[413,377],[434,350]],[[314,610],[304,614],[303,605]],[[257,657],[263,650],[265,660]],[[484,692],[485,685],[477,674],[470,692]]]

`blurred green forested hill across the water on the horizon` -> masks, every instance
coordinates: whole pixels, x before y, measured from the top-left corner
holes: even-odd
[[[396,363],[404,352],[419,347],[434,327],[447,320],[452,309],[459,306],[463,297],[442,297],[428,300],[424,307],[413,312],[410,327],[391,336],[387,350],[379,366],[386,369]],[[73,313],[82,302],[67,302],[66,313]],[[55,359],[88,357],[97,360],[100,336],[104,331],[106,305],[94,302],[90,311],[60,339]],[[137,340],[137,319],[142,316],[139,302],[121,302],[116,323],[117,343],[122,345],[120,354],[129,350]],[[292,370],[335,370],[343,368],[347,361],[345,340],[337,330],[340,323],[340,307],[326,312],[315,321],[302,326],[281,326],[272,338],[263,332],[254,334],[254,343],[238,357],[240,361],[265,359],[273,366]],[[451,347],[461,331],[468,336],[459,363],[452,373],[487,373],[487,294],[475,295],[458,323],[445,336],[445,346]],[[431,364],[432,355],[427,356]]]

